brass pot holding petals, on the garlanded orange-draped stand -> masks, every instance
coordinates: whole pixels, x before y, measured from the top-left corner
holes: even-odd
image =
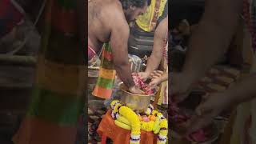
[[[145,112],[150,106],[150,100],[156,94],[157,90],[154,90],[154,94],[133,94],[130,93],[123,82],[119,83],[119,89],[121,90],[121,102],[130,107],[130,109],[137,112]]]

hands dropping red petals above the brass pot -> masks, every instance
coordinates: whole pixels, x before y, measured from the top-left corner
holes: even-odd
[[[161,79],[162,73],[161,72],[162,71],[160,71],[160,70],[154,70],[153,76],[152,76],[152,74],[147,73],[147,72],[140,72],[140,73],[138,73],[138,77],[141,78],[143,82],[146,82],[146,80],[148,78],[150,78],[150,75],[151,75],[152,79],[148,85],[148,89],[152,90],[162,82],[162,79]],[[140,88],[138,88],[138,86],[131,87],[130,91],[133,92],[134,94],[144,94],[144,92],[142,90],[140,90]]]

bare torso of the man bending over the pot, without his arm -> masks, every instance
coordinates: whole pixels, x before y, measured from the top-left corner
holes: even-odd
[[[110,10],[120,9],[117,0],[90,0],[88,2],[88,44],[94,48],[96,53],[102,48],[104,42],[110,41],[111,22],[108,18],[114,17]],[[123,14],[116,14],[120,16]]]

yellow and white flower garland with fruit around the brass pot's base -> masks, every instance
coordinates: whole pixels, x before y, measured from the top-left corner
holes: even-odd
[[[110,106],[114,123],[123,129],[131,130],[130,144],[139,144],[141,130],[158,134],[158,144],[166,143],[168,122],[161,113],[154,110],[152,105],[149,106],[144,114],[136,114],[134,110],[122,105],[118,100],[111,102]]]

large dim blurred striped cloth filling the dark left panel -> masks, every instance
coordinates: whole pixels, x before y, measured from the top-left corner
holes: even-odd
[[[14,144],[76,141],[86,88],[76,6],[74,0],[47,0],[32,101]]]

